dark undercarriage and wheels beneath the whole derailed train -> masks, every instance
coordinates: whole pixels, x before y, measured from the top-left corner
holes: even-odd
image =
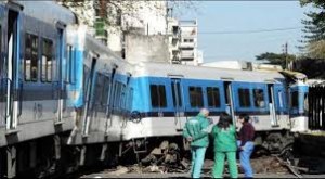
[[[188,168],[190,145],[181,136],[141,138],[125,142],[66,145],[69,133],[48,136],[0,149],[0,174],[4,178],[58,178],[79,169],[109,168],[117,165],[168,165]],[[283,153],[292,150],[288,131],[257,132],[258,150]],[[213,159],[212,140],[206,157]],[[256,153],[258,153],[256,150]],[[184,161],[185,159],[185,161]]]

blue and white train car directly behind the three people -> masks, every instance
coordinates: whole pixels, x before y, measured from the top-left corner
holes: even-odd
[[[291,144],[290,131],[306,130],[301,124],[306,122],[307,85],[290,81],[278,72],[160,63],[136,67],[132,113],[138,119],[131,117],[127,129],[120,131],[125,140],[181,136],[186,119],[202,107],[210,111],[214,123],[221,112],[231,114],[234,123],[239,114],[249,114],[257,130],[256,142],[270,151]]]

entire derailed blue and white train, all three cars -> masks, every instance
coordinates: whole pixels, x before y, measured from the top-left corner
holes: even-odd
[[[214,123],[222,112],[234,122],[249,114],[257,143],[271,151],[307,130],[308,86],[288,73],[131,64],[52,1],[0,2],[0,17],[1,177],[182,144],[186,119],[202,107]]]

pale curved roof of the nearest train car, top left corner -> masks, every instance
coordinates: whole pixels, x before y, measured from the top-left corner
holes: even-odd
[[[41,20],[46,23],[53,24],[57,21],[65,24],[77,23],[76,15],[67,8],[57,4],[54,0],[48,1],[13,1],[3,3],[16,3],[23,7],[23,13],[25,15]]]

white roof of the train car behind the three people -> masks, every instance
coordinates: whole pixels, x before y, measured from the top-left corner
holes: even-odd
[[[173,65],[167,63],[142,62],[136,65],[134,77],[178,76],[193,79],[234,80],[251,82],[282,82],[285,77],[278,72],[255,72],[240,69],[225,69],[207,66]]]

